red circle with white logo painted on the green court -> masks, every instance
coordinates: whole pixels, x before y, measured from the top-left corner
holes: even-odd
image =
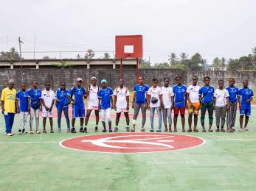
[[[150,153],[195,148],[204,140],[182,134],[114,133],[94,134],[63,140],[60,145],[79,151],[103,153]]]

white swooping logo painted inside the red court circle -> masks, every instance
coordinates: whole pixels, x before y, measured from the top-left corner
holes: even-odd
[[[153,137],[153,138],[140,138],[140,139],[127,139],[127,140],[114,140],[117,138],[123,138],[123,137]],[[166,135],[142,135],[142,134],[133,134],[133,135],[125,135],[125,136],[117,136],[117,137],[106,137],[99,140],[82,140],[83,143],[91,143],[93,145],[101,146],[101,147],[107,147],[107,148],[134,148],[134,147],[123,147],[123,146],[117,146],[117,145],[108,145],[106,143],[134,143],[134,144],[145,144],[145,145],[153,145],[152,148],[174,148],[172,145],[167,145],[165,143],[174,142],[174,140],[170,140],[171,137],[174,136],[166,136]],[[166,140],[169,139],[169,140]],[[151,142],[150,140],[156,140],[156,142]],[[138,148],[138,147],[135,147]],[[150,149],[149,147],[139,147],[139,149]]]

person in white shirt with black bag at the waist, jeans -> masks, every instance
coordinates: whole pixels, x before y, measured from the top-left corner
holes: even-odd
[[[158,115],[158,129],[156,132],[162,131],[162,90],[161,87],[158,86],[158,80],[152,79],[152,86],[148,90],[148,98],[147,98],[147,107],[151,110],[151,132],[153,129],[153,118],[155,115],[155,110]]]

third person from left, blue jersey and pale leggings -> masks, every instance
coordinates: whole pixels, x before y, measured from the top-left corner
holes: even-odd
[[[32,130],[33,120],[35,118],[35,132],[41,134],[39,131],[39,112],[42,111],[41,106],[41,90],[38,89],[38,82],[32,82],[32,88],[28,92],[28,111],[30,112],[30,134],[34,134]]]

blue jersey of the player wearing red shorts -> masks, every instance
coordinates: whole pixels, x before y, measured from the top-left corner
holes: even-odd
[[[185,107],[185,95],[187,92],[187,87],[184,84],[173,86],[174,94],[174,106],[175,107]]]

